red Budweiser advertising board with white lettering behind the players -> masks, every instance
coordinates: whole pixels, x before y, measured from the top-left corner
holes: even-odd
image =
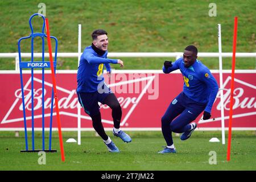
[[[59,98],[61,127],[63,130],[77,130],[77,71],[59,71],[56,74]],[[212,71],[219,84],[219,73]],[[228,127],[231,71],[224,71],[224,115]],[[236,71],[234,84],[233,130],[256,130],[256,72]],[[23,130],[23,108],[19,72],[0,72],[0,130]],[[118,98],[122,106],[121,126],[126,130],[160,130],[161,118],[174,97],[183,89],[183,77],[179,71],[164,74],[162,71],[115,71],[109,82],[105,82]],[[24,100],[27,126],[31,127],[31,74],[23,73]],[[52,82],[51,75],[45,76],[45,96],[42,101],[42,75],[34,74],[34,115],[35,129],[42,127],[42,104],[45,107],[45,125],[49,127]],[[111,109],[101,105],[104,127],[113,127]],[[203,113],[202,113],[203,114]],[[220,92],[212,108],[212,118],[201,121],[202,114],[196,119],[200,130],[221,130]],[[57,128],[56,113],[53,109],[53,128]],[[92,121],[81,109],[82,130],[93,130]]]

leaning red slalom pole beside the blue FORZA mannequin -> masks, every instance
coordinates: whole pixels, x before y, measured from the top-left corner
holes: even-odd
[[[54,68],[53,68],[52,46],[51,46],[51,37],[49,32],[48,18],[46,18],[46,30],[47,30],[46,33],[47,33],[47,42],[48,42],[48,48],[49,48],[49,60],[51,63],[51,71],[52,71],[51,76],[52,76],[53,93],[54,93],[55,106],[56,106],[56,117],[57,117],[59,139],[60,139],[61,160],[64,162],[65,156],[64,156],[64,147],[63,147],[63,140],[62,140],[62,133],[61,133],[61,125],[60,125],[59,104],[58,104],[56,80],[55,80],[55,74],[54,74]]]

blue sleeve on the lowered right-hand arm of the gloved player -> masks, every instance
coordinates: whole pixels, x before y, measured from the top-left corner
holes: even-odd
[[[201,81],[207,84],[207,87],[210,88],[210,96],[207,106],[205,107],[205,111],[210,113],[212,110],[213,103],[218,93],[218,84],[216,79],[213,77],[212,73],[210,73],[209,69],[204,69],[201,71]]]

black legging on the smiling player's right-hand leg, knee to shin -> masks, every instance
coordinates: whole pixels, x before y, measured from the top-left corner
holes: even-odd
[[[121,118],[122,118],[122,108],[117,100],[117,97],[115,97],[113,93],[109,94],[105,98],[104,103],[102,104],[106,104],[112,109],[112,118],[114,122],[114,127],[116,129],[119,129]]]

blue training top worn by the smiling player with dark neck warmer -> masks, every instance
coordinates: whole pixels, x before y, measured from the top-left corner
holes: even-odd
[[[98,55],[92,46],[84,49],[77,71],[77,92],[92,93],[98,90],[98,85],[104,81],[104,67],[110,72],[109,63],[118,63],[117,59],[108,59],[107,55],[108,51],[102,56]]]

